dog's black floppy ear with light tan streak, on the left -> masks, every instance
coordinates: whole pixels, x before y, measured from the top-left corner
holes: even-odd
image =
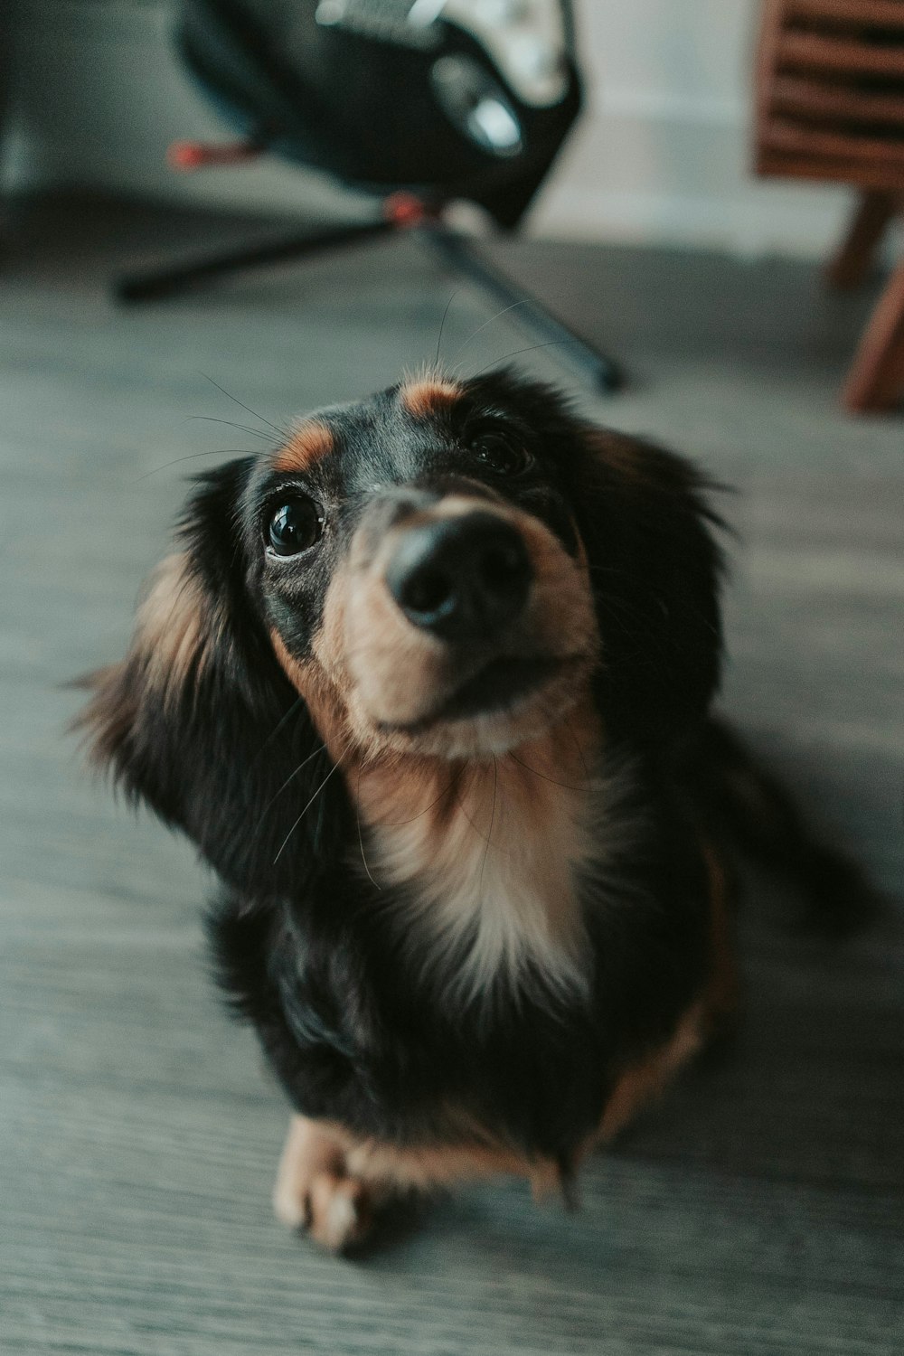
[[[184,830],[225,880],[276,894],[331,852],[344,796],[329,778],[300,819],[332,765],[248,593],[237,506],[249,466],[198,477],[129,652],[87,679],[76,724],[133,803]]]

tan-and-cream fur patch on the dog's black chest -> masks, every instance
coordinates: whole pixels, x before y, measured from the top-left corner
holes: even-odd
[[[400,759],[362,770],[362,866],[392,896],[412,972],[462,1005],[499,984],[585,993],[581,881],[607,848],[609,788],[592,759],[558,728],[465,769]]]

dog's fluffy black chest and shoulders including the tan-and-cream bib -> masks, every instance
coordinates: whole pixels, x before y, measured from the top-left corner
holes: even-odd
[[[641,769],[562,747],[347,769],[343,869],[279,906],[225,900],[222,982],[305,1115],[427,1143],[461,1134],[454,1111],[565,1162],[671,1035],[702,979],[697,850],[644,797],[638,818]]]

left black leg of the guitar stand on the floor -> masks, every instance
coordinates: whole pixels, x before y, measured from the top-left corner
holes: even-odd
[[[248,250],[234,250],[222,255],[211,255],[207,259],[178,264],[173,268],[161,268],[157,273],[133,274],[131,277],[121,278],[114,285],[114,292],[119,301],[156,301],[192,287],[195,283],[206,282],[209,278],[220,278],[229,273],[237,273],[241,268],[258,267],[259,264],[279,263],[285,259],[300,259],[308,255],[323,254],[328,250],[337,250],[342,245],[363,241],[373,236],[382,236],[396,229],[396,224],[386,217],[348,226],[329,226],[325,231],[313,231],[304,236],[290,236],[287,240],[275,240],[272,244],[253,245]]]

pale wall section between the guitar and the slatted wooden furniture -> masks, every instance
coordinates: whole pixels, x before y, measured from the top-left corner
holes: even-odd
[[[847,190],[749,172],[760,0],[581,0],[591,107],[538,229],[823,255]]]

